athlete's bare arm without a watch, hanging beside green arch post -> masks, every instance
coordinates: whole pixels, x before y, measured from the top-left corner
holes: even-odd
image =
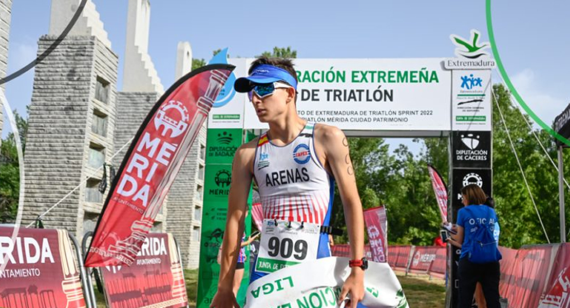
[[[241,248],[241,235],[243,235],[245,228],[243,221],[247,212],[247,197],[253,177],[251,165],[254,155],[255,143],[253,142],[240,146],[235,152],[231,167],[231,186],[228,197],[226,229],[222,242],[218,291],[212,299],[210,307],[239,307],[233,293],[233,281],[235,263],[238,260],[239,248]]]

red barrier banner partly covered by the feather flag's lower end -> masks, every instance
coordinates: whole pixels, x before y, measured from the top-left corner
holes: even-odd
[[[150,233],[131,266],[101,268],[110,308],[178,308],[188,305],[172,235]]]

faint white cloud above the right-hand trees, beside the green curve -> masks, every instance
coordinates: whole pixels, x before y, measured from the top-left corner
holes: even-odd
[[[524,102],[547,125],[551,125],[554,118],[568,105],[567,98],[544,92],[541,88],[542,80],[530,68],[516,73],[511,81]]]

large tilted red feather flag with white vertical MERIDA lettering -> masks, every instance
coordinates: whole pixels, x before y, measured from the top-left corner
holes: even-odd
[[[150,110],[113,180],[86,266],[133,264],[233,68],[211,64],[188,73]]]

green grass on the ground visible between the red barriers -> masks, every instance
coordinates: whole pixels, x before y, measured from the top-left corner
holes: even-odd
[[[398,280],[404,289],[406,298],[410,307],[413,308],[438,308],[445,306],[445,281],[427,276],[409,275],[397,273]],[[186,280],[186,293],[190,307],[196,307],[196,294],[198,290],[198,270],[184,270],[184,278]],[[103,294],[97,292],[97,308],[105,307],[105,299]]]

